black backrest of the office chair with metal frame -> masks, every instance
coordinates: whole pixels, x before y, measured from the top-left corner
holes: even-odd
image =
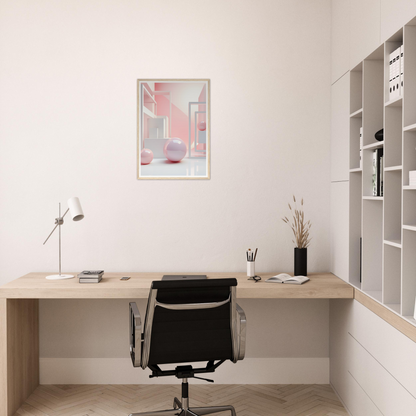
[[[237,361],[236,279],[154,281],[147,304],[142,368]]]

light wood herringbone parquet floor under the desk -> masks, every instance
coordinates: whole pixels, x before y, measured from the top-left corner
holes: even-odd
[[[180,385],[42,385],[15,416],[126,416],[172,409],[174,396]],[[348,416],[328,385],[190,384],[190,407],[227,404],[238,416]]]

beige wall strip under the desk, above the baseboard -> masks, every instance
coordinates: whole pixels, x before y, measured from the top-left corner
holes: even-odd
[[[146,302],[136,302],[144,317]],[[328,300],[238,304],[248,317],[247,357],[328,357]],[[126,300],[42,301],[40,356],[128,358],[128,320]]]

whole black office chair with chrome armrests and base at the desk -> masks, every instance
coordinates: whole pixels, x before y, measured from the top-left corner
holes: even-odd
[[[189,407],[188,378],[212,373],[224,361],[245,354],[246,317],[236,303],[236,279],[154,281],[147,303],[144,330],[136,303],[130,303],[130,355],[134,367],[149,367],[149,377],[182,379],[182,400],[173,409],[130,416],[199,416],[230,411],[233,406]],[[189,363],[207,362],[194,368]],[[181,364],[162,370],[161,364]],[[202,380],[211,381],[203,378]]]

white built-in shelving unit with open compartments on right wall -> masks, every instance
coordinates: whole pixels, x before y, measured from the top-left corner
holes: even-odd
[[[402,44],[404,86],[390,99],[389,55]],[[416,170],[416,18],[350,71],[349,137],[349,282],[416,326],[416,186],[409,186],[409,171]],[[378,197],[372,195],[377,148],[384,159]]]

